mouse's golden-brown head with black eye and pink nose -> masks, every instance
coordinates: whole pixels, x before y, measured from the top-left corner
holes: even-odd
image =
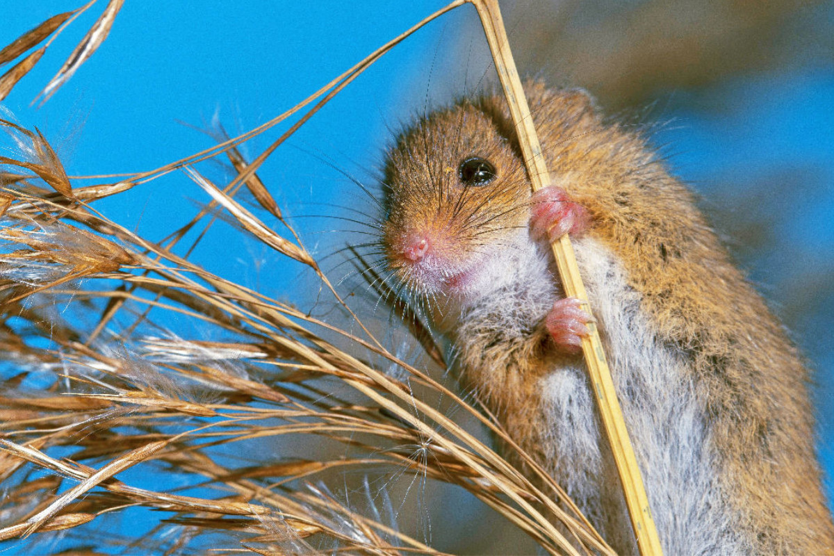
[[[510,140],[471,103],[421,118],[385,165],[383,244],[409,288],[463,293],[484,258],[530,218],[530,182]]]

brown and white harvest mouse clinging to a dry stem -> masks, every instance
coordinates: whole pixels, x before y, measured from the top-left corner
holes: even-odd
[[[831,554],[808,372],[691,193],[588,96],[528,83],[549,188],[500,96],[420,118],[385,165],[381,247],[510,436],[620,553],[631,523],[548,242],[574,238],[664,552]]]

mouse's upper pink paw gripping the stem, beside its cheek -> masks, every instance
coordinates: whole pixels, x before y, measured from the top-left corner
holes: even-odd
[[[582,233],[590,223],[590,214],[574,203],[565,190],[554,185],[540,189],[530,198],[530,233],[533,238],[555,241],[565,233]]]

